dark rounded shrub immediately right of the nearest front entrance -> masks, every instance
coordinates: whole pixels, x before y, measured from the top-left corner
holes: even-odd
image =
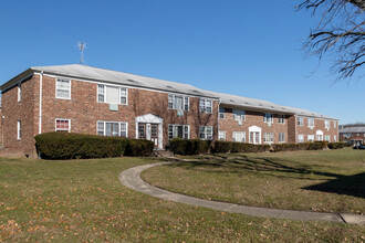
[[[176,155],[200,155],[210,150],[210,140],[174,138],[169,142],[169,149]]]

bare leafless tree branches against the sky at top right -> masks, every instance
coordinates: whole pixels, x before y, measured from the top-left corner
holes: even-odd
[[[363,76],[365,64],[365,0],[305,0],[299,10],[321,15],[317,27],[304,42],[307,54],[322,59],[334,55],[332,71],[338,80],[352,77],[355,72]]]

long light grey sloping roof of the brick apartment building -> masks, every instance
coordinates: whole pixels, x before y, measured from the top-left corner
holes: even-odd
[[[195,87],[189,84],[157,80],[153,77],[145,77],[135,74],[92,67],[81,64],[33,66],[24,71],[23,73],[17,75],[15,77],[11,78],[7,83],[4,83],[2,86],[0,86],[0,89],[3,91],[11,87],[19,80],[24,78],[28,75],[33,74],[34,72],[43,72],[45,74],[54,74],[54,75],[61,75],[67,77],[85,78],[85,80],[100,81],[100,82],[106,82],[113,84],[122,84],[127,86],[158,89],[170,93],[181,93],[194,96],[217,98],[220,99],[221,104],[236,106],[236,107],[243,107],[247,109],[251,108],[259,110],[277,112],[281,114],[293,114],[293,115],[302,115],[302,116],[317,117],[325,119],[335,119],[306,109],[277,105],[267,101],[210,92]]]

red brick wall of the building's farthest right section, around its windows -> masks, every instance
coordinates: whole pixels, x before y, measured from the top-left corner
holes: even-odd
[[[331,136],[331,141],[334,141],[334,136],[336,136],[336,140],[338,141],[338,122],[337,120],[330,120],[330,129],[324,127],[324,120],[320,118],[314,118],[314,127],[311,129],[307,126],[307,117],[304,118],[303,126],[298,125],[298,116],[296,118],[296,139],[298,135],[304,135],[304,141],[307,141],[307,135],[314,135],[314,139],[316,140],[316,131],[322,130],[323,131],[323,139],[326,135]],[[336,123],[336,128],[334,128],[334,123]]]

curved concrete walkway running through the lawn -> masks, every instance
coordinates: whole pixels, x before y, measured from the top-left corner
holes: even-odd
[[[213,210],[242,213],[253,216],[265,216],[265,218],[278,218],[278,219],[291,219],[291,220],[314,220],[314,221],[328,221],[328,222],[342,222],[350,224],[365,224],[364,215],[347,214],[347,213],[322,213],[322,212],[310,212],[310,211],[295,211],[295,210],[281,210],[281,209],[267,209],[259,207],[239,205],[234,203],[208,201],[198,199],[185,194],[179,194],[170,191],[166,191],[154,186],[146,183],[140,179],[139,175],[142,171],[156,166],[168,165],[173,162],[157,162],[144,166],[134,167],[123,171],[119,175],[121,182],[133,190],[160,198],[174,202],[180,202],[190,205],[205,207]]]

